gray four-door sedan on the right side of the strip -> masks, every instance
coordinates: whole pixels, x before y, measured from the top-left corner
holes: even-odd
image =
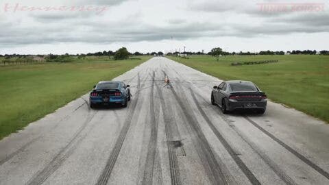
[[[266,110],[267,96],[252,82],[232,80],[214,86],[211,103],[221,107],[223,113],[249,109],[263,114]]]

